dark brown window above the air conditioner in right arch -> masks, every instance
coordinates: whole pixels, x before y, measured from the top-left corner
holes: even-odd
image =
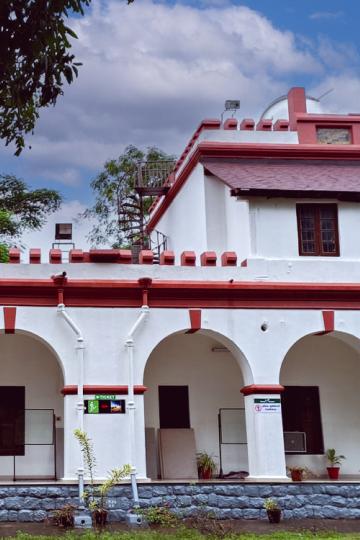
[[[281,409],[284,431],[305,433],[305,453],[323,454],[319,388],[285,386],[281,395]]]

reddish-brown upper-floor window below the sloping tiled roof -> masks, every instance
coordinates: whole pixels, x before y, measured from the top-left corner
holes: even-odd
[[[298,204],[299,255],[340,254],[336,204]]]

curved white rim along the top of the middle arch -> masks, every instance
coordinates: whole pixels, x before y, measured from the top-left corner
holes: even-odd
[[[144,377],[145,377],[146,367],[147,367],[147,365],[149,363],[150,358],[152,357],[152,355],[156,351],[156,349],[161,344],[163,344],[167,339],[171,338],[172,336],[181,336],[181,335],[203,335],[203,336],[207,336],[209,338],[212,338],[214,341],[217,341],[220,345],[222,345],[224,347],[224,349],[227,349],[228,351],[230,351],[232,356],[235,358],[235,360],[236,360],[236,362],[237,362],[237,364],[238,364],[238,366],[240,368],[243,380],[244,380],[244,386],[253,384],[254,378],[253,378],[253,373],[252,373],[250,364],[249,364],[246,356],[244,355],[244,353],[241,351],[241,349],[230,338],[228,338],[224,334],[221,334],[220,332],[216,332],[215,330],[211,330],[211,329],[200,329],[199,331],[197,331],[195,333],[189,333],[188,328],[184,328],[183,330],[177,330],[175,332],[172,332],[172,333],[168,334],[167,336],[163,337],[152,348],[152,350],[150,351],[150,353],[149,353],[149,355],[147,357],[147,360],[146,360],[146,362],[144,364],[144,368],[143,368],[143,372],[142,372],[142,381],[143,381],[142,384],[144,384]],[[226,350],[224,352],[226,352]]]

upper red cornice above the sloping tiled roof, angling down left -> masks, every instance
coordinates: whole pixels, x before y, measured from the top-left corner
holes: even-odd
[[[197,145],[185,166],[178,174],[175,183],[155,208],[147,224],[148,232],[151,232],[156,227],[156,224],[169,208],[193,169],[203,158],[360,160],[360,145],[249,144],[203,141]]]

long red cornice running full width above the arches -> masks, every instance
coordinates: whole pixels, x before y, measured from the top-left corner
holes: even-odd
[[[69,307],[139,308],[143,302],[143,289],[133,280],[69,280],[62,290]],[[0,305],[57,303],[57,287],[50,279],[0,279]],[[360,284],[154,280],[148,304],[185,309],[360,309]]]

